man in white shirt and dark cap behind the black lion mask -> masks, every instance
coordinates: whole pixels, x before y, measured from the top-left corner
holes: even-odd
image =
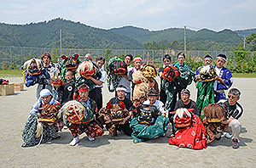
[[[154,90],[154,88],[148,91],[148,100],[144,101],[143,104],[154,105],[158,110],[158,115],[166,116],[165,104],[158,100],[159,94]]]

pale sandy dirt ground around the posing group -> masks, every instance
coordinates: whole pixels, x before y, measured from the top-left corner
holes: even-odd
[[[11,82],[22,82],[11,78]],[[167,137],[158,137],[145,143],[132,143],[132,138],[118,132],[111,137],[108,131],[90,142],[85,134],[79,145],[68,145],[72,140],[69,131],[60,132],[61,138],[38,147],[21,148],[21,134],[29,110],[36,102],[36,87],[29,87],[13,95],[0,96],[1,164],[0,167],[255,167],[256,166],[256,78],[234,79],[241,90],[244,108],[241,116],[240,148],[231,148],[230,139],[223,137],[199,151],[177,148],[168,144]],[[195,100],[195,83],[189,86]],[[113,97],[107,84],[103,91],[104,104]],[[166,133],[167,135],[170,133]]]

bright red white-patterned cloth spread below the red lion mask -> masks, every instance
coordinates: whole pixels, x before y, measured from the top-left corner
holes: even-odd
[[[184,127],[175,132],[175,137],[169,139],[169,144],[177,145],[180,148],[193,148],[199,150],[207,148],[206,130],[198,115],[192,115],[192,125]]]

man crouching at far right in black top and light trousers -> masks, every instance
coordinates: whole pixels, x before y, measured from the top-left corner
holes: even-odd
[[[225,137],[232,137],[233,148],[239,148],[240,141],[241,124],[238,119],[243,113],[241,104],[237,102],[240,99],[240,95],[241,92],[237,88],[231,88],[228,98],[218,101],[218,103],[224,104],[224,108],[227,110],[228,120],[224,120],[222,123],[229,125],[225,131]],[[232,136],[228,132],[232,132]]]

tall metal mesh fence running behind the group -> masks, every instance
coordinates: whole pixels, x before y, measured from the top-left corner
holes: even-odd
[[[61,55],[70,55],[78,53],[81,58],[84,58],[86,53],[90,53],[95,59],[97,56],[106,56],[108,60],[110,56],[120,56],[127,53],[131,53],[133,56],[139,56],[143,60],[152,59],[154,64],[161,64],[162,58],[165,54],[169,54],[172,57],[173,63],[177,62],[177,53],[183,52],[181,50],[147,50],[147,49],[84,49],[84,48],[29,48],[29,47],[8,47],[0,46],[0,70],[4,67],[11,69],[19,68],[26,60],[32,58],[40,58],[43,53],[50,53],[52,60],[56,62],[61,60]],[[202,58],[209,54],[213,59],[217,57],[219,53],[224,53],[230,61],[235,59],[236,55],[231,51],[187,51],[186,58],[194,59],[194,61],[202,61]],[[247,52],[247,61],[253,61],[253,52]]]

